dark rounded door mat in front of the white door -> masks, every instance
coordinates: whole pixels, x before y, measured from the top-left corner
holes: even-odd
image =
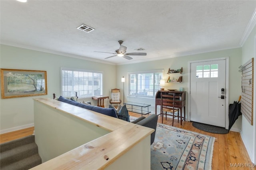
[[[207,125],[204,123],[193,122],[192,125],[201,131],[210,132],[210,133],[217,133],[217,134],[227,134],[228,129],[224,127],[218,127],[213,125]]]

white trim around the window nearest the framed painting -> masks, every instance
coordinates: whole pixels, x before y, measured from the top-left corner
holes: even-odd
[[[87,70],[87,69],[78,69],[78,68],[70,68],[70,67],[60,67],[60,96],[62,96],[62,70],[66,70],[66,71],[80,71],[80,72],[92,72],[92,73],[100,73],[102,74],[102,81],[101,81],[101,92],[103,95],[103,72],[102,71],[98,71],[98,70]],[[101,96],[101,95],[96,95],[96,96]],[[79,96],[78,96],[79,97]],[[93,96],[83,96],[80,97],[80,99],[82,98],[91,98]]]

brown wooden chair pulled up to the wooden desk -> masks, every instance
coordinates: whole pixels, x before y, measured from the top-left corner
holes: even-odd
[[[178,111],[178,114],[175,114],[177,111]],[[179,109],[175,108],[175,93],[161,94],[161,115],[162,115],[162,123],[163,123],[164,115],[165,115],[165,120],[167,118],[167,115],[172,116],[172,126],[173,126],[175,117],[178,117],[178,122],[179,122]]]

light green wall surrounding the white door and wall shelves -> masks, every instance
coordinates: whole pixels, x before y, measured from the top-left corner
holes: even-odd
[[[214,59],[214,58],[223,58],[229,57],[229,103],[233,103],[234,101],[238,101],[241,89],[241,74],[238,72],[238,67],[241,65],[241,55],[242,49],[228,49],[222,51],[214,51],[209,53],[202,53],[196,55],[187,55],[183,57],[174,57],[170,59],[163,59],[157,61],[150,61],[144,63],[136,63],[136,64],[125,64],[117,66],[117,87],[123,88],[123,84],[121,82],[121,77],[124,76],[126,78],[124,84],[124,96],[128,96],[128,72],[133,71],[148,71],[148,70],[160,70],[164,69],[164,73],[168,72],[168,68],[178,69],[183,68],[183,74],[171,74],[170,78],[173,75],[175,76],[183,76],[183,83],[165,83],[165,89],[179,89],[180,87],[184,88],[184,91],[188,91],[188,62],[189,61],[198,61],[204,59]],[[164,77],[166,80],[168,75],[165,74]],[[122,90],[121,90],[122,91]],[[122,93],[121,93],[122,95]],[[123,96],[123,95],[122,95]],[[121,97],[123,98],[123,97]],[[186,95],[186,99],[188,96]],[[133,101],[140,103],[151,104],[150,111],[155,112],[155,100],[154,99],[145,99],[145,98],[129,98],[126,97],[125,102]],[[188,100],[186,100],[186,106],[188,106]],[[158,112],[160,112],[160,108],[158,108]],[[186,115],[188,114],[188,108],[186,108]],[[241,118],[239,118],[236,123],[232,127],[236,131],[240,131],[241,129]]]

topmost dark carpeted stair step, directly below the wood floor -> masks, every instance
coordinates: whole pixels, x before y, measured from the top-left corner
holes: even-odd
[[[14,149],[15,147],[20,147],[22,145],[26,145],[29,143],[34,143],[35,142],[35,136],[34,135],[29,135],[27,137],[23,137],[20,139],[16,139],[10,142],[2,143],[0,145],[0,153],[5,152],[6,150],[11,150]]]

